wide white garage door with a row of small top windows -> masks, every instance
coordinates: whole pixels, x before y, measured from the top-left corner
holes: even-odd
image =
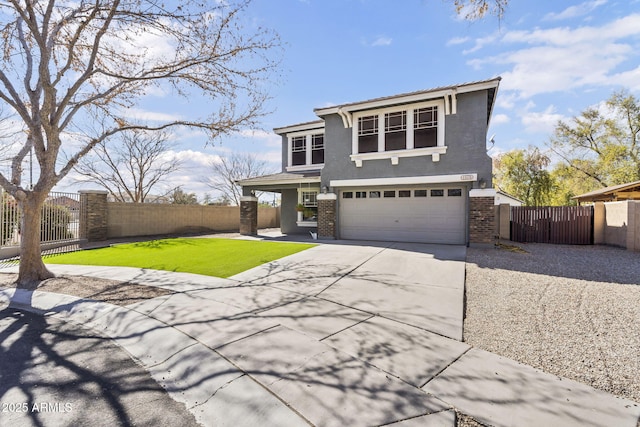
[[[340,192],[340,237],[466,243],[463,188],[357,189]]]

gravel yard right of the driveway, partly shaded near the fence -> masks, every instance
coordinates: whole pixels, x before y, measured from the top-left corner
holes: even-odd
[[[509,242],[466,274],[467,343],[640,402],[639,253]]]

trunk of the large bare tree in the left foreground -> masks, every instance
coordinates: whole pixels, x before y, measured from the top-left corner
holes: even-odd
[[[20,269],[17,281],[19,289],[35,290],[42,280],[54,277],[42,262],[40,250],[40,220],[45,198],[46,194],[29,192],[26,198],[19,202],[22,209]]]

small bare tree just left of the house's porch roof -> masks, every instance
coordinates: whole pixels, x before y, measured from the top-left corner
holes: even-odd
[[[228,199],[236,206],[240,205],[242,189],[236,181],[271,172],[268,163],[259,160],[252,153],[231,153],[229,156],[219,156],[209,163],[211,176],[205,178],[204,183],[209,188],[218,191],[223,199]]]

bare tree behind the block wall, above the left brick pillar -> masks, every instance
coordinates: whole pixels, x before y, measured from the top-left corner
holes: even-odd
[[[166,132],[124,132],[101,141],[75,170],[104,187],[118,202],[144,203],[150,191],[180,168]]]

